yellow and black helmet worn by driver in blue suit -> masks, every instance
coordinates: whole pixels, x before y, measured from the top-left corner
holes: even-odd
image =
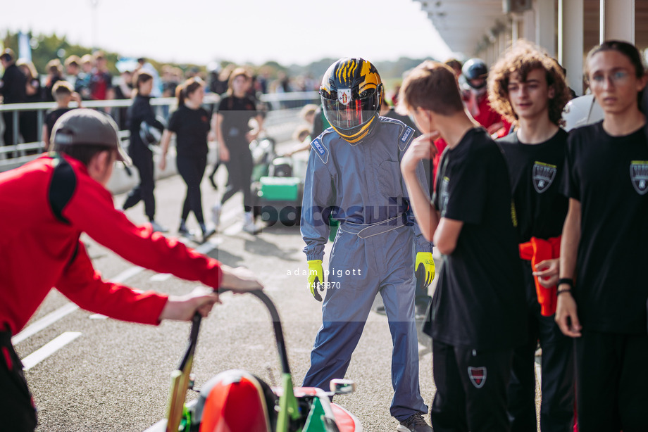
[[[359,142],[378,125],[382,81],[362,58],[340,58],[325,72],[320,86],[326,120],[345,141]]]

